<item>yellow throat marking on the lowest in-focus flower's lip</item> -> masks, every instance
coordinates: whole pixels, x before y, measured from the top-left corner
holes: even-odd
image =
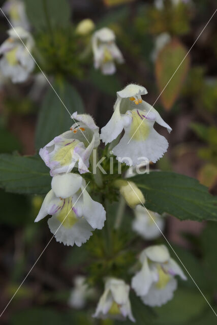
[[[75,212],[72,210],[72,197],[65,199],[63,208],[57,213],[57,219],[59,222],[63,222],[65,228],[73,227],[73,225],[78,221]]]

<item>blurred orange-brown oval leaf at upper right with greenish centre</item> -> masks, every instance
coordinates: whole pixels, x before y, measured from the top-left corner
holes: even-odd
[[[160,93],[186,54],[187,49],[177,39],[173,39],[159,53],[155,71]],[[190,58],[187,56],[161,94],[161,101],[166,110],[171,109],[180,93],[184,78],[189,70],[189,63]]]

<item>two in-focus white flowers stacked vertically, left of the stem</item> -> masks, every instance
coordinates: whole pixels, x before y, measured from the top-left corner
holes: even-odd
[[[103,228],[106,212],[89,196],[85,180],[70,173],[75,167],[80,174],[88,172],[89,156],[99,145],[99,128],[87,114],[75,112],[72,118],[79,122],[39,151],[53,178],[35,221],[52,215],[48,225],[56,240],[67,246],[81,246],[92,231]]]

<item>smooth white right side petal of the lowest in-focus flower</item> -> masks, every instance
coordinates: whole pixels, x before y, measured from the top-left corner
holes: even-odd
[[[84,217],[94,229],[102,229],[106,220],[106,211],[101,203],[91,199],[86,189],[81,186],[82,195],[73,197],[75,209],[80,217]]]

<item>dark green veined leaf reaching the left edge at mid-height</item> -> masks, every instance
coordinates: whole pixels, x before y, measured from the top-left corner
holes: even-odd
[[[0,187],[7,192],[45,194],[50,183],[49,169],[40,157],[0,154]]]

